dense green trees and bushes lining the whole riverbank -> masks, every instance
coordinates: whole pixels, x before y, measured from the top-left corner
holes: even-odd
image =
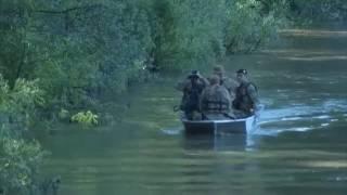
[[[253,52],[288,21],[343,20],[346,9],[343,0],[0,0],[0,191],[35,184],[43,153],[25,139],[35,118],[98,110],[105,93],[153,72]],[[97,123],[87,114],[74,119]]]

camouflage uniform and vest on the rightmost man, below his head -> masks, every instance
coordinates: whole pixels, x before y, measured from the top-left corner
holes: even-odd
[[[240,118],[255,114],[260,106],[257,87],[252,82],[242,83],[236,89],[236,98],[232,104]]]

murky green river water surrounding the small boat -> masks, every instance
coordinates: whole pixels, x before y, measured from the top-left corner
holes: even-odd
[[[165,77],[130,92],[123,120],[43,139],[59,194],[346,195],[347,32],[283,31],[280,46],[224,66],[258,84],[266,108],[255,134],[184,136],[177,78]]]

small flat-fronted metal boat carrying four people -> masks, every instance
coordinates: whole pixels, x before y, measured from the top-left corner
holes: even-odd
[[[252,133],[256,129],[255,116],[242,119],[187,120],[182,119],[188,134]]]

